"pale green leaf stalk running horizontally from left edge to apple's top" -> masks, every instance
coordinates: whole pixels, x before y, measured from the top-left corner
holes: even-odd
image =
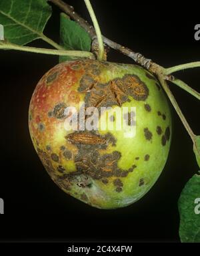
[[[15,49],[17,51],[29,51],[33,53],[43,53],[50,55],[61,55],[61,56],[72,56],[72,57],[87,57],[91,59],[95,59],[93,53],[89,51],[65,51],[59,49],[45,49],[38,47],[30,47],[30,46],[21,46],[15,45],[13,43],[7,43],[5,41],[0,41],[0,49]]]

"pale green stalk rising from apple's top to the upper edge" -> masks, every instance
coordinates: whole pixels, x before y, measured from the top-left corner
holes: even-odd
[[[98,40],[98,46],[99,46],[99,53],[97,56],[97,59],[99,60],[105,60],[105,55],[104,55],[104,45],[103,45],[103,38],[101,35],[101,29],[99,27],[99,23],[97,21],[97,17],[95,15],[95,12],[93,11],[93,7],[91,6],[91,3],[89,0],[84,0],[85,5],[87,7],[87,10],[89,11],[89,15],[91,17],[91,20],[93,21],[93,25],[95,27],[96,35],[97,35],[97,40]]]

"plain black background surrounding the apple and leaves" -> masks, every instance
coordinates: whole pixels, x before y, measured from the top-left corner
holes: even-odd
[[[66,1],[89,20],[83,1]],[[137,1],[91,1],[103,35],[143,53],[162,66],[199,60],[194,39],[199,7],[192,1],[139,4]],[[132,5],[131,5],[132,3]],[[59,41],[59,9],[53,7],[45,34]],[[49,47],[39,40],[29,43]],[[5,215],[1,241],[179,241],[177,201],[187,180],[198,170],[191,140],[175,111],[173,140],[165,169],[137,203],[113,211],[99,210],[63,193],[49,178],[31,143],[28,108],[33,90],[57,64],[51,55],[0,52],[1,170],[0,197]],[[133,63],[111,51],[109,61]],[[199,70],[177,76],[199,90]],[[171,85],[183,113],[198,134],[199,102]]]

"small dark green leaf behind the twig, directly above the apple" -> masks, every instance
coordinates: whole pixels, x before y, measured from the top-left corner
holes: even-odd
[[[90,51],[91,38],[89,34],[75,21],[71,21],[65,13],[60,19],[61,45],[67,50]],[[60,56],[59,61],[67,61],[71,57]]]

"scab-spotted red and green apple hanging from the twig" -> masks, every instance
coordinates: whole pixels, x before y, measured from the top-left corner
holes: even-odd
[[[122,130],[67,131],[64,110],[78,111],[79,102],[136,107],[135,136],[123,136],[130,123]],[[93,207],[117,209],[143,197],[161,174],[171,112],[159,82],[143,68],[78,59],[41,78],[29,106],[29,131],[45,169],[65,193]]]

